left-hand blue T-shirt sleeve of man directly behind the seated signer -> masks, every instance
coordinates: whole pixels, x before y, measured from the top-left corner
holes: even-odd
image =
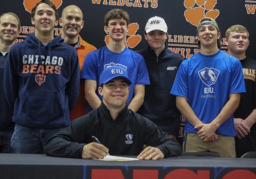
[[[88,79],[97,81],[97,61],[98,58],[94,52],[87,54],[81,71],[82,80]]]

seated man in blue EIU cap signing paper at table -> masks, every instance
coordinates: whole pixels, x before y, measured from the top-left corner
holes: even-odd
[[[110,155],[136,155],[140,160],[157,160],[181,155],[181,146],[152,121],[127,108],[129,85],[122,67],[106,68],[100,76],[98,109],[72,121],[46,144],[47,155],[103,159]],[[101,141],[94,142],[92,136]],[[143,145],[148,147],[143,150]]]

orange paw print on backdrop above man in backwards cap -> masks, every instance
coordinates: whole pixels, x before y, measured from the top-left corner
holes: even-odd
[[[184,16],[186,21],[197,26],[199,21],[204,17],[216,19],[219,16],[219,10],[213,9],[217,4],[217,0],[185,0],[186,8]]]

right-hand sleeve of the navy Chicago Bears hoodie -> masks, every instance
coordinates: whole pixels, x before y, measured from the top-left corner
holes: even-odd
[[[66,93],[68,96],[68,108],[71,111],[74,108],[79,96],[79,83],[80,83],[80,67],[77,52],[71,58],[71,77],[67,83]]]

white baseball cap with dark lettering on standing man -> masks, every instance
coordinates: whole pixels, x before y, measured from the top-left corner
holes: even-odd
[[[146,33],[149,33],[154,30],[160,30],[165,33],[167,32],[168,27],[163,18],[155,16],[148,19],[148,22],[145,27]]]

